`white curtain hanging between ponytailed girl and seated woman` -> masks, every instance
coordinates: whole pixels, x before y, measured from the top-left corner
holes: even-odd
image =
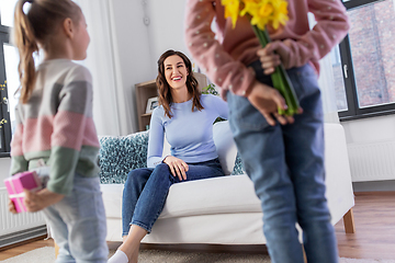
[[[88,57],[82,62],[93,78],[93,119],[99,135],[122,135],[122,113],[119,98],[125,98],[116,78],[115,57],[111,37],[111,16],[108,0],[76,0],[81,7],[91,37]]]

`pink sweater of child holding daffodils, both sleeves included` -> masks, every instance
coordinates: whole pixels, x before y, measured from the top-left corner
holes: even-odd
[[[289,50],[286,69],[311,62],[319,72],[318,60],[337,45],[349,30],[346,8],[340,0],[289,0],[290,20],[275,32],[269,32],[273,42]],[[317,24],[309,28],[307,13]],[[214,20],[215,19],[215,20]],[[212,22],[215,21],[215,33]],[[238,18],[233,28],[230,19],[224,19],[221,0],[188,0],[185,41],[193,58],[208,78],[222,88],[246,95],[255,81],[246,65],[258,59],[261,48],[246,16]]]

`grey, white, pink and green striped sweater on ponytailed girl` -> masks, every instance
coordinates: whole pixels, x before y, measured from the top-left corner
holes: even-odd
[[[47,188],[65,195],[74,187],[76,172],[98,176],[100,145],[87,68],[68,59],[44,61],[29,102],[15,111],[11,174],[34,169],[44,160],[50,168]]]

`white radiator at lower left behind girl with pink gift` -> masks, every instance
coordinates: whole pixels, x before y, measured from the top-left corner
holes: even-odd
[[[7,190],[0,187],[0,247],[46,233],[43,213],[21,213],[13,215],[8,210],[8,202]]]

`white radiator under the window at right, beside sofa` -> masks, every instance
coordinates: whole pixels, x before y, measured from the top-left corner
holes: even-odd
[[[349,144],[352,182],[395,180],[395,141]]]

